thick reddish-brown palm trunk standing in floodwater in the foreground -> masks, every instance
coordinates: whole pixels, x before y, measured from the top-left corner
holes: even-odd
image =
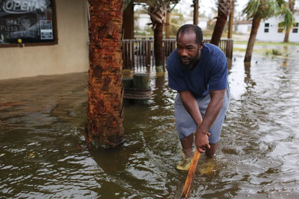
[[[85,139],[95,148],[123,141],[123,0],[89,0],[89,93]]]

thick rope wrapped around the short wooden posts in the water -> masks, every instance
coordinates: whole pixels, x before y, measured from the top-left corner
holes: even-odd
[[[124,99],[151,99],[152,98],[152,89],[137,89],[137,88],[125,88],[123,91]]]

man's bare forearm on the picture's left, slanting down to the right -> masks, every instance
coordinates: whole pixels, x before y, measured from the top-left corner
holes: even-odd
[[[196,99],[190,91],[180,91],[179,94],[185,109],[192,117],[197,127],[199,127],[202,123],[202,115],[199,111]]]

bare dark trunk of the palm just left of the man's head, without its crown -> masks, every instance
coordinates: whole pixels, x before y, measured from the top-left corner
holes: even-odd
[[[157,23],[154,30],[154,54],[156,70],[164,70],[163,24]]]

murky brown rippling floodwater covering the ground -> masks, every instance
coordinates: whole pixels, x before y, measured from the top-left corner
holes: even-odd
[[[299,198],[299,53],[234,58],[220,144],[188,198]],[[179,198],[176,91],[145,72],[152,100],[126,105],[124,145],[99,151],[83,135],[87,73],[0,81],[0,198]]]

